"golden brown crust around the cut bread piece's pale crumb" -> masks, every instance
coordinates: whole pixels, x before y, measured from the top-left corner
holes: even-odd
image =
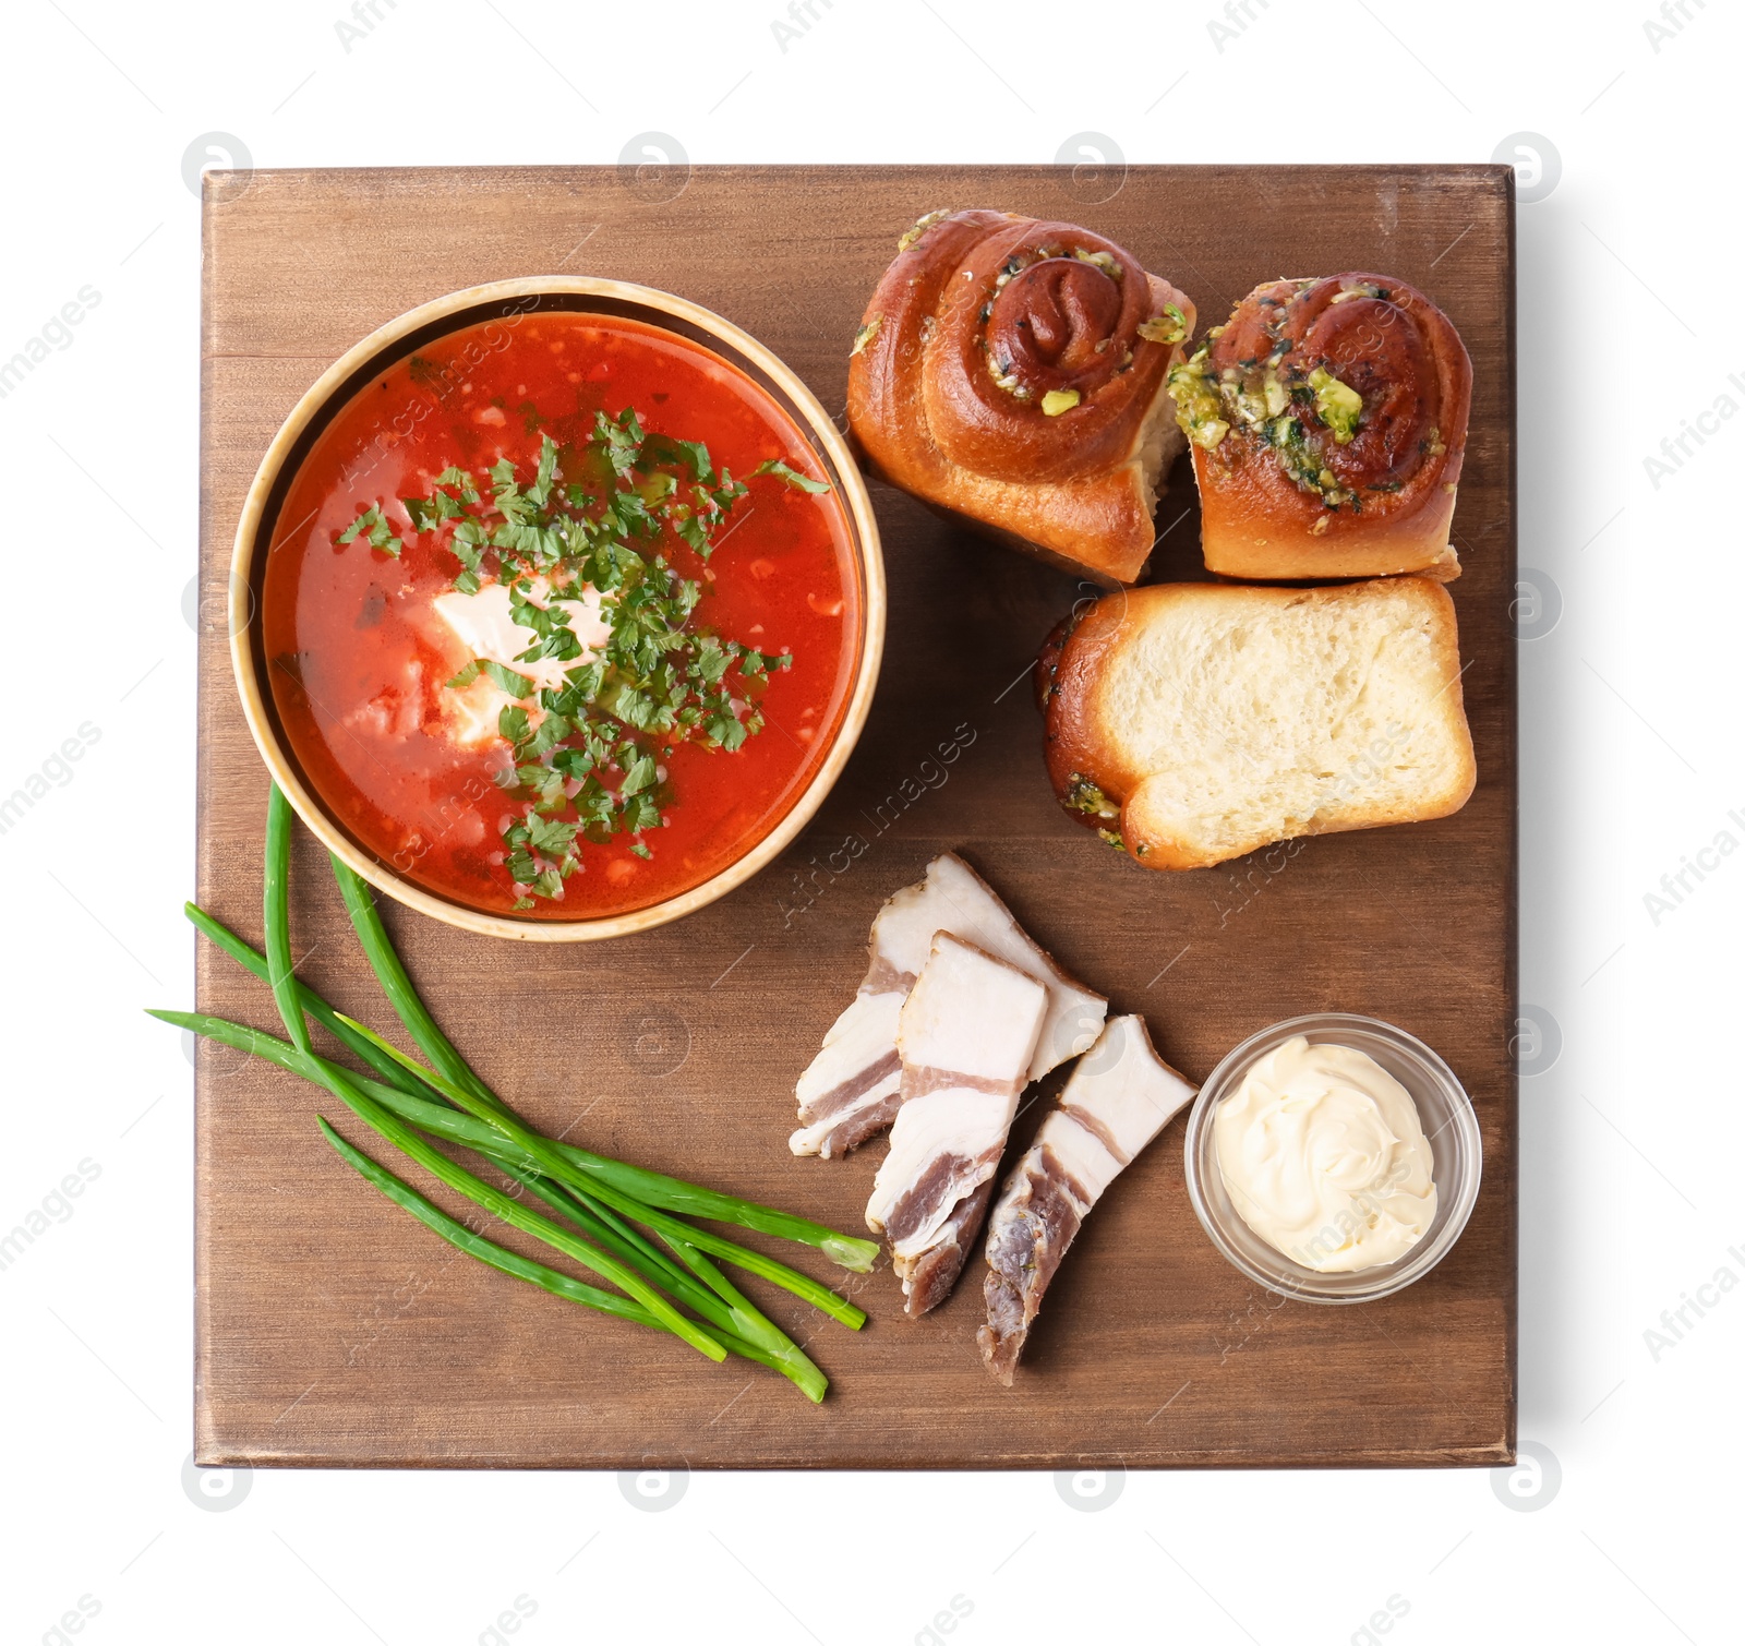
[[[1317,820],[1298,834],[1335,834],[1347,829],[1382,827],[1399,822],[1429,822],[1459,812],[1473,794],[1478,768],[1461,695],[1459,632],[1454,600],[1441,583],[1429,578],[1384,578],[1328,588],[1267,588],[1222,583],[1157,583],[1119,590],[1096,602],[1075,627],[1061,625],[1044,642],[1038,658],[1038,702],[1044,707],[1044,752],[1049,782],[1068,815],[1085,827],[1115,833],[1127,855],[1150,869],[1202,869],[1269,845],[1277,836],[1256,838],[1241,850],[1208,852],[1194,841],[1173,840],[1146,815],[1145,780],[1129,754],[1129,742],[1110,723],[1101,702],[1101,681],[1110,660],[1134,634],[1157,620],[1162,607],[1181,602],[1242,600],[1251,606],[1286,607],[1304,600],[1365,600],[1373,590],[1412,592],[1429,614],[1436,672],[1441,688],[1438,714],[1459,728],[1464,758],[1447,791],[1436,801],[1389,806],[1372,803],[1361,819]]]

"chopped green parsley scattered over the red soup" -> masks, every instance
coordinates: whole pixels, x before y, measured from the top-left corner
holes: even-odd
[[[518,410],[537,428],[529,408]],[[829,490],[780,459],[754,475]],[[567,665],[555,688],[490,658],[475,658],[447,682],[462,691],[483,676],[517,698],[497,716],[511,759],[496,773],[515,805],[503,848],[517,909],[560,897],[590,841],[626,834],[637,857],[653,857],[642,834],[667,822],[674,794],[665,758],[679,744],[731,752],[763,731],[757,698],[792,656],[701,627],[705,585],[670,560],[677,539],[707,562],[743,496],[745,484],[717,468],[703,442],[647,433],[625,408],[597,414],[579,447],[543,433],[532,475],[506,457],[483,473],[450,466],[428,496],[400,499],[412,531],[440,534],[459,560],[457,590],[508,588],[511,618],[534,635],[517,663]],[[339,543],[358,538],[393,555],[403,548],[380,504]],[[564,604],[583,599],[597,599],[609,630],[592,653]]]

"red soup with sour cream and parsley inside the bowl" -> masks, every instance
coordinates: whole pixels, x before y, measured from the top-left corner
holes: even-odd
[[[599,314],[455,332],[298,468],[262,592],[272,696],[330,812],[443,897],[661,902],[824,761],[859,578],[796,424],[726,361]]]

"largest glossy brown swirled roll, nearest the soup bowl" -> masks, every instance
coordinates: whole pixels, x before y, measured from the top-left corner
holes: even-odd
[[[1087,229],[935,211],[867,304],[850,431],[892,485],[1105,586],[1131,583],[1183,447],[1166,382],[1194,318]]]

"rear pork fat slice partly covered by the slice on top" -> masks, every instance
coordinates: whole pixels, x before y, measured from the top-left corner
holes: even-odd
[[[951,932],[1030,974],[1049,991],[1030,1079],[1077,1056],[1103,1026],[1108,1002],[1068,977],[1012,918],[1012,911],[961,857],[946,852],[927,876],[897,892],[872,922],[871,964],[860,991],[799,1077],[794,1154],[846,1154],[890,1126],[902,1101],[897,1012],[927,964],[935,932]]]

